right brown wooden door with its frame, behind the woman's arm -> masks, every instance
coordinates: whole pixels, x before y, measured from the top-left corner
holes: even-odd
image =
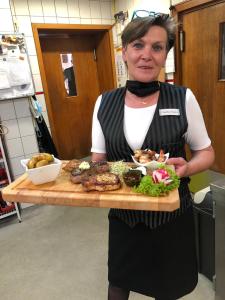
[[[185,43],[183,52],[177,47],[179,77],[176,83],[191,88],[196,95],[216,151],[213,169],[225,173],[225,80],[220,78],[221,24],[225,22],[225,1],[196,3],[200,2],[209,3],[189,7],[178,17]]]

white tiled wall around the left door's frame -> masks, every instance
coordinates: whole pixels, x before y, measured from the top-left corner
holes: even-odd
[[[42,92],[42,82],[31,23],[112,24],[112,0],[0,0],[0,32],[25,34],[35,91]],[[16,24],[16,25],[15,25]],[[44,95],[37,95],[47,125]],[[20,160],[38,152],[28,99],[0,101],[0,118],[8,127],[5,136],[14,178],[23,174]]]

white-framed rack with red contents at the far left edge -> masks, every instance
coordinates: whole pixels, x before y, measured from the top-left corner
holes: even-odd
[[[0,134],[0,219],[17,214],[19,222],[21,222],[17,203],[7,203],[2,199],[1,190],[10,182],[11,176],[2,144],[2,136]]]

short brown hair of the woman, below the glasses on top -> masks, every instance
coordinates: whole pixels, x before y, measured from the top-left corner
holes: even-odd
[[[167,32],[167,51],[169,51],[175,43],[176,25],[169,15],[159,15],[156,17],[144,17],[133,19],[123,30],[121,39],[122,46],[126,47],[133,41],[143,37],[152,26],[160,26]]]

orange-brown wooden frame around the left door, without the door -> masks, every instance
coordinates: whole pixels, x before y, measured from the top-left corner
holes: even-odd
[[[40,33],[41,32],[47,32],[48,34],[55,34],[55,33],[79,33],[79,34],[104,34],[103,41],[98,41],[98,52],[100,53],[98,64],[100,64],[99,69],[102,70],[105,65],[105,62],[103,61],[103,54],[107,54],[108,57],[110,57],[108,61],[108,69],[111,71],[111,86],[110,88],[116,88],[116,66],[115,66],[115,55],[114,55],[114,44],[113,44],[113,35],[112,35],[112,28],[113,25],[82,25],[82,24],[43,24],[43,23],[32,23],[32,31],[34,36],[34,43],[36,46],[37,51],[37,59],[40,69],[40,75],[43,85],[43,92],[45,96],[45,103],[47,108],[47,114],[49,118],[51,133],[53,137],[53,141],[56,145],[56,148],[58,148],[58,139],[57,139],[57,133],[54,126],[53,121],[53,112],[51,109],[51,99],[50,94],[48,91],[48,82],[45,74],[45,68],[44,68],[44,61],[43,61],[43,55],[42,55],[42,49],[41,49],[41,41],[40,41]],[[107,45],[106,45],[107,44]],[[100,75],[100,73],[99,73]],[[105,76],[104,76],[105,77]],[[102,84],[100,82],[100,93],[104,91],[104,89],[109,89],[106,83],[105,78],[102,78]],[[101,79],[99,78],[99,81]],[[105,86],[104,86],[105,85]]]

